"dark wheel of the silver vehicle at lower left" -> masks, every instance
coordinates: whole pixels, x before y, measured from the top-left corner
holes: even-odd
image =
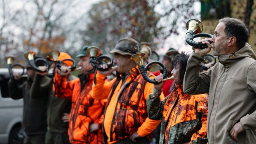
[[[23,144],[24,138],[24,130],[19,126],[14,127],[10,132],[8,144]]]

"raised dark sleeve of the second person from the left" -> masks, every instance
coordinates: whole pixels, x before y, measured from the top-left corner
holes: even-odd
[[[31,98],[40,98],[49,95],[51,85],[51,78],[36,74],[30,89]]]

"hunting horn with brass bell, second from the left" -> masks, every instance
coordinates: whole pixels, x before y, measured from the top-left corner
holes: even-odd
[[[48,69],[49,68],[49,63],[47,62],[46,59],[44,58],[37,58],[36,60],[34,60],[34,56],[35,56],[35,52],[32,52],[32,51],[29,51],[29,52],[26,52],[24,54],[24,57],[27,58],[29,60],[29,64],[30,66],[37,72],[46,72],[45,71],[41,71],[40,69],[38,69],[38,67],[35,65],[35,63],[41,61],[42,63],[45,64],[46,68]]]

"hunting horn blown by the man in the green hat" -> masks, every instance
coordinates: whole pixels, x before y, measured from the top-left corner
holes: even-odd
[[[61,69],[61,63],[64,63],[64,61],[71,61],[73,64],[71,66],[71,71],[76,69],[76,61],[72,58],[66,58],[64,60],[59,61],[58,60],[58,56],[60,55],[60,51],[58,50],[53,50],[51,52],[49,52],[49,54],[47,55],[47,60],[49,61],[53,61],[53,63],[55,63],[55,66],[58,67],[58,69]]]

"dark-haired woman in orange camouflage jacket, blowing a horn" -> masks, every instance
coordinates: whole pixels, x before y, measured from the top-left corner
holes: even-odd
[[[207,94],[187,95],[183,92],[183,78],[189,55],[181,52],[172,60],[175,88],[160,101],[164,84],[163,75],[154,79],[153,92],[147,100],[148,117],[162,120],[160,144],[206,144],[207,143]]]

